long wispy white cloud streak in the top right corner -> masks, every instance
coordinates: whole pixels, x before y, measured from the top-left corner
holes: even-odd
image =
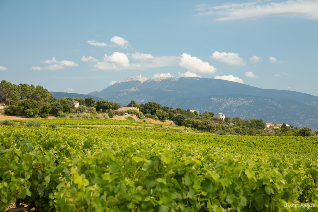
[[[215,19],[218,21],[273,15],[318,19],[317,7],[316,0],[289,0],[278,3],[268,1],[224,3],[220,6],[202,4],[198,5],[196,10],[199,16],[218,16]]]

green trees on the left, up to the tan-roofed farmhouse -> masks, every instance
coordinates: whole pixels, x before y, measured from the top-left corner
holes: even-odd
[[[25,115],[35,118],[39,115],[47,118],[49,114],[55,116],[62,113],[73,113],[73,111],[109,111],[109,109],[119,109],[118,102],[105,100],[94,101],[91,97],[86,98],[61,98],[55,99],[51,92],[42,86],[34,86],[20,83],[12,84],[6,80],[0,82],[0,100],[5,103],[4,111],[8,115]],[[79,107],[74,107],[74,100],[79,102]]]

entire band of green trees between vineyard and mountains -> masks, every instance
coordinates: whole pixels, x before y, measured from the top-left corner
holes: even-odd
[[[35,118],[39,115],[47,118],[50,114],[60,116],[62,113],[73,113],[74,111],[85,112],[108,112],[110,118],[114,116],[110,109],[117,110],[121,107],[118,102],[108,100],[93,100],[91,97],[82,98],[60,98],[55,99],[52,94],[42,86],[34,86],[20,83],[12,84],[6,80],[0,82],[1,103],[6,103],[5,113],[8,115],[25,115]],[[79,102],[79,107],[74,107],[74,101]],[[137,104],[131,100],[124,107],[137,107],[135,110],[125,111],[129,114],[135,114],[139,118],[152,118],[154,120],[171,120],[176,125],[192,127],[199,131],[233,134],[233,135],[268,135],[268,136],[312,136],[309,127],[287,127],[284,123],[280,128],[269,127],[261,119],[243,120],[241,117],[219,119],[214,117],[214,113],[205,111],[204,113],[191,112],[180,107],[174,109],[169,106],[161,106],[159,103],[151,101]],[[125,113],[121,112],[121,113]],[[318,133],[318,132],[317,132]]]

